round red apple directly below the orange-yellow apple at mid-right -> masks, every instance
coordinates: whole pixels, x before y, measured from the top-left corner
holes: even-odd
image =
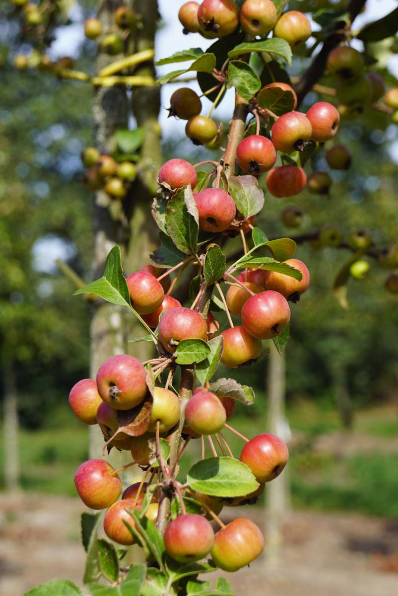
[[[282,333],[290,321],[290,308],[282,294],[266,290],[247,300],[241,316],[243,327],[251,336],[272,339]]]

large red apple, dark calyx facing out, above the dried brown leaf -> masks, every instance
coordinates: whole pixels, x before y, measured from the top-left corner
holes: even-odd
[[[146,377],[147,371],[134,356],[111,356],[99,367],[98,393],[112,408],[134,408],[147,393]]]

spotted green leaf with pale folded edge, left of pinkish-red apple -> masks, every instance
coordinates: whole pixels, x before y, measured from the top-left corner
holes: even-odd
[[[198,210],[191,187],[179,190],[167,203],[166,228],[178,250],[195,254],[198,241]]]

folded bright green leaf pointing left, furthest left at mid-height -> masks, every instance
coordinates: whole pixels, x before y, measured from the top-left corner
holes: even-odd
[[[104,275],[99,280],[93,281],[83,288],[79,288],[73,295],[77,296],[77,294],[83,294],[85,292],[97,294],[97,296],[101,296],[101,298],[112,304],[131,308],[129,288],[126,278],[123,275],[122,257],[119,246],[114,246],[108,254]]]

